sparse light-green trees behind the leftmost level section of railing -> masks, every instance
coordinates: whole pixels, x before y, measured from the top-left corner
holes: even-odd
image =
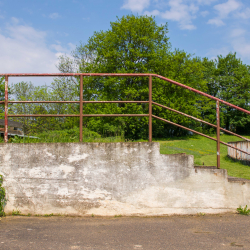
[[[76,90],[70,88],[67,81],[54,79],[50,87],[34,86],[31,82],[19,82],[11,85],[12,96],[17,101],[74,101]],[[14,114],[74,114],[79,113],[76,104],[22,103],[10,105],[9,113]],[[77,118],[76,118],[77,119]],[[72,128],[76,120],[72,117],[20,117],[16,118],[24,126],[25,134],[34,134],[47,130]],[[79,121],[78,121],[79,123]]]

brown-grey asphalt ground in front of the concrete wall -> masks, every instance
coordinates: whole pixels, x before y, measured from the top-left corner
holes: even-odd
[[[0,249],[250,249],[250,216],[7,216]]]

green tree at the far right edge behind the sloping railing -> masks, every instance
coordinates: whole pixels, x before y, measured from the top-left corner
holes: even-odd
[[[250,103],[250,68],[236,57],[236,53],[227,56],[218,56],[216,80],[219,91],[217,96],[244,109]],[[227,129],[238,133],[249,133],[250,117],[231,107],[223,108],[225,126]],[[248,124],[248,126],[246,126]]]

